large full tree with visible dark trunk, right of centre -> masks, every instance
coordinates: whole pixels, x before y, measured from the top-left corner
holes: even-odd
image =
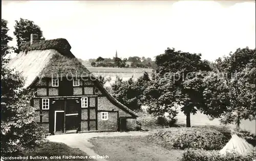
[[[165,50],[156,56],[153,82],[145,90],[150,111],[156,115],[172,113],[173,106],[181,106],[190,127],[190,113],[203,106],[202,79],[211,70],[209,62],[201,60],[201,54],[190,54],[175,49]]]

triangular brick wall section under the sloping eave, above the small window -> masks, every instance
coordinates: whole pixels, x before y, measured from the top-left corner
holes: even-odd
[[[98,110],[119,111],[119,117],[131,117],[131,114],[123,111],[114,104],[112,104],[106,97],[98,97]]]

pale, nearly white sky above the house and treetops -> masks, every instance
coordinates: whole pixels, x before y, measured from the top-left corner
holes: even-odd
[[[66,38],[83,60],[151,57],[167,48],[215,59],[255,48],[255,1],[2,1],[15,20],[33,20],[46,39]],[[14,39],[10,45],[16,45]]]

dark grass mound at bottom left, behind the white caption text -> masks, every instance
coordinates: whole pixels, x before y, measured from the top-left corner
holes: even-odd
[[[94,160],[94,159],[65,159],[62,158],[63,155],[66,156],[84,156],[84,157],[89,157],[85,152],[76,149],[76,148],[71,148],[67,146],[66,144],[63,143],[56,143],[56,142],[46,142],[41,144],[39,147],[34,148],[32,151],[27,151],[23,154],[23,156],[47,156],[48,159],[38,159],[38,158],[32,158],[29,160],[51,160],[51,161],[57,161],[57,160],[69,160],[69,161],[77,161],[77,160]],[[55,156],[55,158],[51,158],[51,156]],[[59,157],[59,158],[56,158]]]

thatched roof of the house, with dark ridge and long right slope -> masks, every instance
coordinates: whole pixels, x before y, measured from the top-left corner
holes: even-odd
[[[70,52],[70,49],[71,46],[66,39],[41,40],[31,45],[27,42],[21,45],[20,53],[10,60],[5,67],[14,68],[22,73],[25,78],[25,88],[32,85],[38,77],[66,77],[72,74],[73,76],[91,76],[95,78]],[[131,109],[118,102],[105,90],[98,80],[96,80],[96,83],[116,106],[136,117]]]

